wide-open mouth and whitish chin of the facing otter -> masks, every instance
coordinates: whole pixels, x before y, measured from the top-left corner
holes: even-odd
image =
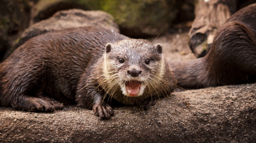
[[[122,86],[122,92],[129,97],[137,97],[143,94],[145,85],[141,81],[126,81]]]

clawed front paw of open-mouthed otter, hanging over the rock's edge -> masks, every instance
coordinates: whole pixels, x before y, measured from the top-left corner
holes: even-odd
[[[100,120],[109,119],[111,115],[114,115],[113,109],[105,102],[96,103],[92,109],[96,116],[100,116]]]

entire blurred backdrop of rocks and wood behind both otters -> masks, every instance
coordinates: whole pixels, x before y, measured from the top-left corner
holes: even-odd
[[[97,25],[164,46],[167,60],[204,56],[218,28],[256,0],[0,0],[0,62],[28,39]]]

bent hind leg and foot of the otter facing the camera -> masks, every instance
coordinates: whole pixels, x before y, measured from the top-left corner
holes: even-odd
[[[22,71],[22,73],[6,72],[1,78],[0,85],[2,89],[5,89],[1,91],[1,105],[12,106],[22,111],[54,111],[54,106],[48,101],[37,97],[38,91],[40,91],[40,77],[42,77],[40,70],[36,68],[31,70],[31,68],[19,64],[14,69]]]

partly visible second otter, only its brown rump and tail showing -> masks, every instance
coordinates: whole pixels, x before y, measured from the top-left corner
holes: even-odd
[[[218,30],[209,53],[169,62],[178,86],[206,88],[256,82],[256,4],[233,14]]]

